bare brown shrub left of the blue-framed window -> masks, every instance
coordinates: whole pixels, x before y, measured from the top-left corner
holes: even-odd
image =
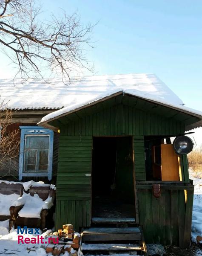
[[[0,103],[0,109],[6,106],[5,101]],[[10,130],[12,124],[12,111],[4,109],[0,111],[0,164],[17,157],[19,154],[19,131]]]

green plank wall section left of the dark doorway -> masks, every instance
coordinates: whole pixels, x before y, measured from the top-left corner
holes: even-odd
[[[91,223],[91,136],[60,136],[56,194],[56,227]]]

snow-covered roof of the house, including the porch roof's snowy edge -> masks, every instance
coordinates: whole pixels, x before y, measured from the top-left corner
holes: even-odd
[[[114,93],[128,93],[202,118],[202,112],[184,106],[181,99],[154,74],[85,76],[68,85],[61,79],[45,81],[0,80],[0,95],[11,109],[59,109],[43,117],[60,115],[97,102]]]

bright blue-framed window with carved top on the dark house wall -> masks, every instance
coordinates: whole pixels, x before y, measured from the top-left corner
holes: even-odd
[[[54,132],[40,126],[20,126],[19,180],[52,177]]]

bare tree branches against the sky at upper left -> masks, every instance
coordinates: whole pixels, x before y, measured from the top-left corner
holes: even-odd
[[[85,58],[91,25],[84,26],[76,13],[71,16],[50,15],[41,20],[41,6],[35,0],[0,0],[0,45],[23,79],[43,78],[43,70],[51,68],[63,80],[72,70],[91,70]],[[61,11],[62,12],[62,11]]]

